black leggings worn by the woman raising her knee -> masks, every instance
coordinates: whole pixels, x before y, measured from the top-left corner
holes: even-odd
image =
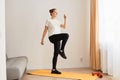
[[[54,56],[52,60],[52,69],[56,69],[59,50],[64,51],[65,44],[68,40],[68,37],[69,35],[67,33],[54,34],[49,37],[50,42],[54,44]]]

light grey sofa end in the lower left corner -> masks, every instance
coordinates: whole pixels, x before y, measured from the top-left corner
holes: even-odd
[[[26,71],[28,58],[26,56],[7,58],[7,80],[22,80]]]

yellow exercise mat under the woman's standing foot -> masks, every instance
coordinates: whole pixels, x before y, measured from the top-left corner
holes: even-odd
[[[47,77],[57,77],[57,78],[69,78],[77,80],[96,80],[97,76],[92,76],[92,74],[83,74],[75,72],[62,72],[62,74],[51,74],[50,70],[34,70],[29,71],[28,74],[47,76]]]

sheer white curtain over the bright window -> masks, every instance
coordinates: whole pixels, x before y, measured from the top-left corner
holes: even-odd
[[[99,0],[101,67],[120,80],[120,1]]]

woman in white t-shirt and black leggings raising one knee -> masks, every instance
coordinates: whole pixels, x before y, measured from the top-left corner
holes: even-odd
[[[64,48],[68,40],[69,35],[67,33],[62,33],[61,28],[66,28],[66,15],[64,15],[64,23],[61,24],[57,19],[57,10],[55,8],[50,9],[49,13],[51,18],[46,21],[45,29],[43,31],[41,44],[44,45],[44,37],[48,32],[49,40],[54,44],[54,56],[52,60],[52,74],[61,74],[60,71],[56,69],[58,54],[64,59],[67,59]]]

